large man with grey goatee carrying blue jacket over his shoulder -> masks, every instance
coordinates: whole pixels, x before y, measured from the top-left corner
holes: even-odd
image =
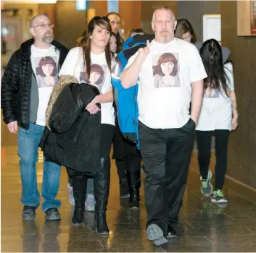
[[[136,85],[139,78],[139,143],[146,173],[146,235],[157,245],[176,236],[172,226],[178,220],[186,188],[194,131],[202,105],[203,80],[207,77],[197,48],[174,38],[175,28],[176,18],[170,8],[155,9],[154,40],[139,48],[120,74],[125,88]],[[177,64],[173,63],[174,58]],[[155,75],[165,85],[156,84]],[[175,83],[169,82],[170,79]]]

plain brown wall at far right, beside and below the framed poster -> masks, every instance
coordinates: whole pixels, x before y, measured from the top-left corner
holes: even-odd
[[[221,1],[222,42],[231,49],[239,127],[231,134],[228,175],[256,189],[256,37],[236,32],[236,1]]]

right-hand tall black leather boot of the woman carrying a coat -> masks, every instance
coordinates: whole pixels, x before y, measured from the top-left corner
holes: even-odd
[[[110,158],[99,158],[98,170],[94,176],[95,225],[96,232],[109,234],[106,211],[110,194]]]

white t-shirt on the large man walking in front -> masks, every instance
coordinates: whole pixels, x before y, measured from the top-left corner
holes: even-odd
[[[138,56],[128,60],[131,66]],[[174,38],[169,43],[152,40],[139,73],[139,121],[153,129],[181,128],[189,121],[191,82],[207,77],[197,48]]]

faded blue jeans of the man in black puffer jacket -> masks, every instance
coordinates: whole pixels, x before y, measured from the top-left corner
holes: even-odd
[[[44,127],[30,123],[28,130],[19,129],[18,155],[20,156],[20,176],[22,181],[23,205],[37,206],[40,204],[40,194],[37,187],[36,163],[38,162],[38,145]],[[42,197],[44,203],[42,210],[45,212],[51,207],[59,208],[60,200],[55,200],[59,192],[59,176],[61,166],[46,160],[44,157],[44,173],[42,182]]]

